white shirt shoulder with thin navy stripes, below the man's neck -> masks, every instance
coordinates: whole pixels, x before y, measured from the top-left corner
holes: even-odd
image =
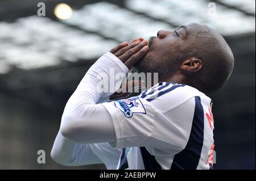
[[[205,94],[185,84],[159,82],[142,92],[139,98],[147,100],[156,110],[163,113],[180,106],[195,96],[202,95]]]

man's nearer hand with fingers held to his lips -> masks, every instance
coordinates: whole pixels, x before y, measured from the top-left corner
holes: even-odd
[[[110,50],[110,53],[118,57],[131,70],[133,65],[147,53],[147,44],[148,42],[142,38],[134,39],[130,43],[119,44]]]

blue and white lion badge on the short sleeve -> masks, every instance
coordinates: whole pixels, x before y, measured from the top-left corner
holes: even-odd
[[[123,112],[123,114],[130,118],[134,113],[146,113],[146,110],[138,97],[116,100],[114,101],[115,107]]]

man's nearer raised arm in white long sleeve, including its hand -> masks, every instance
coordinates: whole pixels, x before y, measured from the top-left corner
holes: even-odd
[[[109,112],[96,103],[100,98],[112,95],[133,64],[146,54],[147,41],[139,42],[119,44],[88,70],[65,107],[60,127],[64,137],[80,144],[115,141]],[[111,74],[113,71],[114,75]],[[119,79],[113,77],[117,73],[121,73]]]

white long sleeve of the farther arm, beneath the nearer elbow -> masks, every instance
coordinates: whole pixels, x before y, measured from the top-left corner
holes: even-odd
[[[109,143],[75,144],[59,132],[51,150],[53,160],[65,166],[81,166],[104,163],[107,169],[116,169],[121,150]]]

